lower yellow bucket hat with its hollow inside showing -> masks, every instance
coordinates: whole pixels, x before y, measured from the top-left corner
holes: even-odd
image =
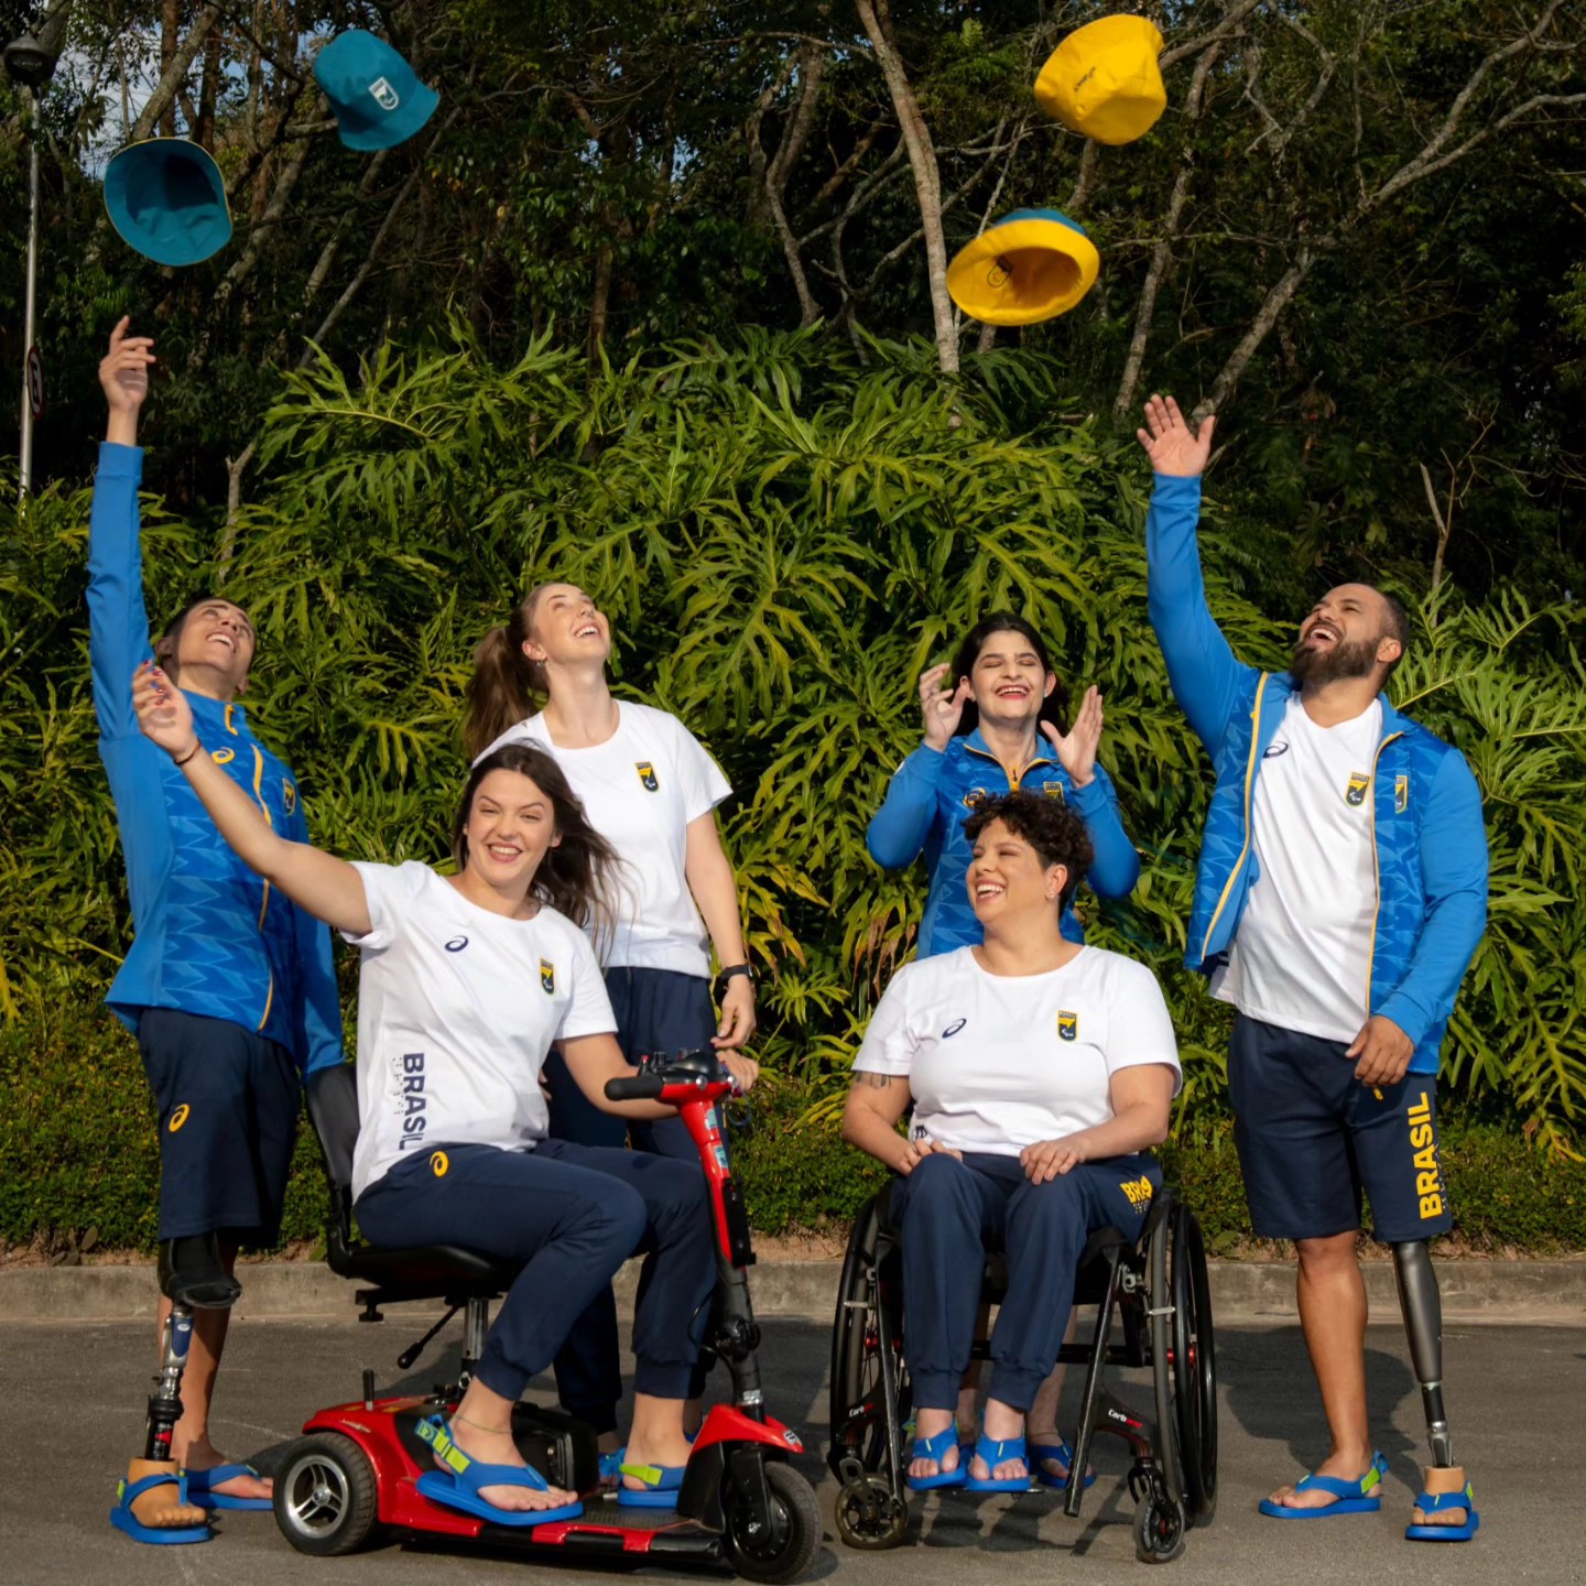
[[[953,301],[988,325],[1036,325],[1066,314],[1096,284],[1101,254],[1066,214],[1015,209],[947,266]]]

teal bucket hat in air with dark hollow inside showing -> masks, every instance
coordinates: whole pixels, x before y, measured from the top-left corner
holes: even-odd
[[[105,209],[121,239],[159,265],[197,265],[232,241],[220,167],[187,138],[127,144],[105,167]]]

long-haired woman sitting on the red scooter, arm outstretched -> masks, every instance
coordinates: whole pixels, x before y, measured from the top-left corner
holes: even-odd
[[[452,834],[457,874],[442,877],[285,842],[200,752],[187,701],[159,669],[138,669],[133,704],[243,861],[360,948],[352,1180],[363,1232],[522,1262],[450,1424],[430,1427],[439,1469],[425,1494],[503,1524],[579,1513],[525,1465],[512,1405],[642,1250],[619,1499],[669,1507],[688,1458],[693,1323],[715,1275],[706,1185],[693,1163],[547,1139],[539,1072],[554,1044],[595,1105],[672,1115],[606,1099],[606,1082],[633,1067],[584,926],[609,918],[615,861],[555,761],[514,745],[474,766]],[[753,1083],[753,1063],[728,1064],[742,1088]]]

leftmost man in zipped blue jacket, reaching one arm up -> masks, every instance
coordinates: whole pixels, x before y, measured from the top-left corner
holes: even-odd
[[[284,836],[308,841],[292,771],[236,703],[254,661],[247,614],[189,604],[151,644],[138,546],[138,412],[154,343],[122,319],[100,363],[109,427],[89,530],[89,655],[100,758],[127,863],[135,937],[109,1006],[138,1036],[160,1129],[162,1377],[144,1458],[111,1511],[140,1542],[203,1542],[208,1508],[268,1508],[270,1481],[209,1442],[238,1248],[268,1247],[301,1110],[301,1074],[341,1061],[330,933],[238,860],[168,755],[138,730],[132,674],[159,658],[205,753]]]

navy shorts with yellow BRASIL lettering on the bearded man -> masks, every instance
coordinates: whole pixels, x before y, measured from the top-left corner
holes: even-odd
[[[1234,1139],[1261,1239],[1327,1239],[1361,1226],[1388,1245],[1453,1226],[1437,1153],[1437,1082],[1407,1074],[1373,1090],[1348,1044],[1240,1015],[1228,1052]]]

